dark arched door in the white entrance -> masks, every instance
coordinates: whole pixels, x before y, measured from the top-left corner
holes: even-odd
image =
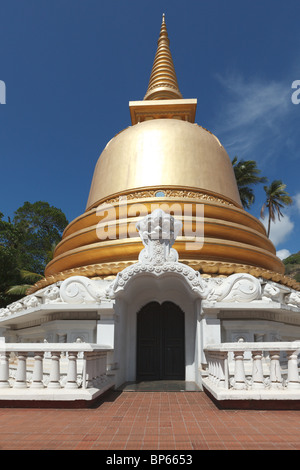
[[[185,380],[184,313],[172,302],[150,302],[137,314],[139,380]]]

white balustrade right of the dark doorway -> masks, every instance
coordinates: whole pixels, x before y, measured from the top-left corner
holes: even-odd
[[[204,384],[224,391],[270,390],[276,394],[299,390],[300,400],[299,354],[300,341],[209,345],[205,348],[208,374],[203,375]],[[287,367],[281,357],[287,358]]]

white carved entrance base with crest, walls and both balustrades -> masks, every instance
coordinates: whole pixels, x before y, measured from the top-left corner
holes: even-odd
[[[48,360],[52,358],[52,366],[56,364],[56,367],[63,351],[67,352],[69,362],[72,351],[77,355],[81,351],[82,354],[84,351],[105,353],[102,354],[105,365],[103,369],[102,360],[102,379],[100,382],[98,379],[97,393],[95,383],[89,378],[92,393],[83,395],[89,400],[98,396],[101,390],[136,381],[138,312],[150,302],[172,302],[184,313],[185,381],[195,382],[201,389],[204,386],[222,401],[243,396],[244,399],[263,399],[264,393],[268,399],[274,399],[274,396],[278,399],[279,393],[281,400],[298,400],[300,342],[295,340],[300,337],[299,293],[246,273],[227,278],[201,276],[180,263],[172,248],[180,226],[174,217],[158,209],[137,224],[144,244],[138,262],[125,268],[114,280],[73,276],[2,309],[2,335],[7,341],[2,342],[1,349],[0,383],[4,384],[4,397],[16,399],[22,389],[24,399],[24,388],[28,383],[31,399],[34,396],[35,400],[41,399],[43,394],[49,399],[49,385],[46,387],[45,383],[53,382],[54,374],[55,383],[60,384],[52,387],[54,392],[58,390],[56,399],[62,399],[63,382],[69,384],[66,385],[66,396],[76,399],[87,379],[85,372],[81,372],[83,375],[78,382],[74,353],[73,362],[68,365],[72,367],[73,364],[71,372],[67,371],[66,362],[62,362],[65,378],[60,378],[58,369],[56,372],[49,369],[50,378],[46,380],[44,371],[39,377],[39,383],[44,385],[35,395],[37,372],[33,373],[33,367],[30,378],[26,378],[25,363],[28,353],[32,353],[37,361],[36,352],[45,355],[48,351]],[[62,336],[64,344],[59,348]],[[35,342],[34,347],[32,342]],[[70,347],[68,343],[73,344]],[[54,350],[59,352],[55,355]],[[19,361],[18,366],[12,364],[10,374],[7,372],[8,351],[17,352]],[[169,355],[175,354],[174,351],[170,349]],[[31,356],[29,354],[27,362]],[[268,363],[270,370],[267,370]],[[253,388],[249,374],[257,364],[261,372],[256,370],[253,380],[256,384],[259,378],[261,387],[254,385]],[[99,376],[97,367],[95,377]],[[280,373],[278,367],[280,370],[283,367]],[[8,386],[9,380],[11,385]],[[22,386],[16,386],[20,381]],[[78,383],[72,388],[70,383],[74,385],[74,382]]]

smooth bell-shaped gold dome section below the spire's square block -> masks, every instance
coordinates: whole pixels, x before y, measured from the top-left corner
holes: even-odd
[[[153,119],[114,137],[95,168],[87,208],[123,191],[201,189],[241,205],[231,161],[219,140],[177,119]]]

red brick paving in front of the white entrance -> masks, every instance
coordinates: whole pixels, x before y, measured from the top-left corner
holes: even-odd
[[[92,409],[0,409],[0,450],[300,450],[300,411],[219,410],[199,392],[111,391]]]

